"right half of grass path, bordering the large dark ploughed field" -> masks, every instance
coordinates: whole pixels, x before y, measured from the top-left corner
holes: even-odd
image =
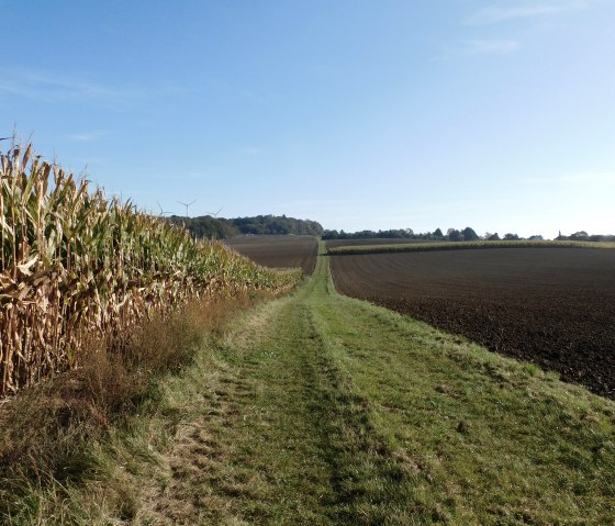
[[[612,401],[406,316],[332,300],[320,310],[325,339],[409,472],[404,512],[389,524],[615,523]]]

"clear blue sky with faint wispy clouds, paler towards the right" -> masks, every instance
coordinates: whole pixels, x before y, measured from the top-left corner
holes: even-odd
[[[613,0],[0,12],[0,136],[143,210],[615,234]]]

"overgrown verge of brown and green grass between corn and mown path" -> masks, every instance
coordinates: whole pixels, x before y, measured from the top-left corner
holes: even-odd
[[[233,315],[255,301],[242,295],[193,302],[120,339],[90,342],[76,369],[3,400],[0,524],[94,521],[100,489],[90,494],[88,488],[113,479],[118,467],[107,449],[118,437],[131,436],[139,415],[155,414],[165,379],[191,370]],[[103,502],[120,510],[119,516],[126,515],[131,501],[122,485],[103,492]]]

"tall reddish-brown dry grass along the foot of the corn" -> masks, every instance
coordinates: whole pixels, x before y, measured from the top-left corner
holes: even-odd
[[[93,475],[93,441],[121,428],[139,404],[155,398],[157,379],[191,363],[205,339],[224,332],[231,314],[253,302],[246,294],[193,302],[122,338],[91,340],[74,370],[0,405],[0,519],[32,485]]]

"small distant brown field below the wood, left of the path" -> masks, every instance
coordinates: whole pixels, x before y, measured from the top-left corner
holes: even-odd
[[[313,236],[241,236],[224,243],[264,267],[301,267],[306,275],[314,271],[318,254]]]

